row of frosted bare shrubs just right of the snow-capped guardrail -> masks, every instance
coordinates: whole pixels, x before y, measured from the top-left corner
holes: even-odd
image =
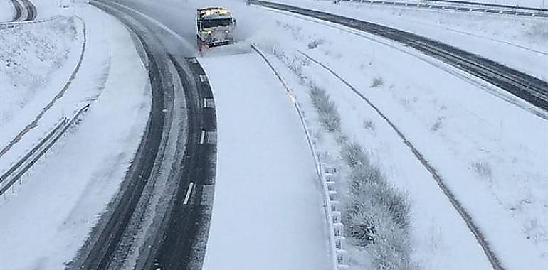
[[[304,65],[284,53],[275,54],[300,77],[301,82],[309,86],[312,105],[321,124],[327,131],[334,133],[340,146],[340,156],[350,168],[347,175],[348,194],[342,211],[350,241],[369,252],[372,257],[371,269],[412,269],[407,196],[390,185],[381,170],[372,165],[362,146],[350,141],[341,131],[341,117],[336,104],[325,90],[317,87],[303,74],[301,68]],[[300,68],[295,65],[300,65]],[[372,87],[384,83],[382,78],[376,79]]]

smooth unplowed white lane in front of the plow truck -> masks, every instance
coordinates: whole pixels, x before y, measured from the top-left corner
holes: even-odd
[[[258,55],[201,58],[218,115],[204,269],[329,269],[321,186],[291,100]],[[226,67],[238,70],[228,74]]]

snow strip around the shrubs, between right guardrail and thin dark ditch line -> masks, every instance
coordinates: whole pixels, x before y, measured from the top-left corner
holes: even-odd
[[[278,63],[277,67],[283,70],[284,65]],[[389,182],[408,195],[411,204],[413,263],[420,265],[421,269],[490,269],[490,264],[473,235],[468,232],[463,220],[431,180],[431,175],[414,158],[409,148],[401,144],[399,137],[384,120],[372,108],[364,106],[361,100],[346,95],[347,86],[334,80],[325,70],[311,65],[303,71],[310,76],[310,80],[321,82],[321,87],[326,90],[339,90],[329,92],[342,115],[343,133],[364,146]],[[285,70],[284,78],[290,82],[290,87],[296,92],[297,100],[301,102],[306,114],[312,116],[309,122],[314,127],[312,133],[317,134],[320,152],[339,156],[336,138],[322,131],[319,120],[314,117],[315,108],[310,104],[307,87],[301,85],[295,74],[288,70]],[[366,121],[372,123],[369,129],[364,128]],[[331,162],[337,171],[342,172],[338,180],[347,178],[348,173],[345,171],[348,169],[339,164],[341,161],[337,159],[340,158],[331,159],[334,159]],[[344,183],[342,185],[344,190]],[[346,201],[344,198],[340,200]],[[352,247],[350,252],[353,269],[369,269],[363,252]]]

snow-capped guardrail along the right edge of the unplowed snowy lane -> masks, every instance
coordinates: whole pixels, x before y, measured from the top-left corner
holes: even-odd
[[[316,166],[316,173],[318,175],[318,179],[320,180],[320,183],[322,184],[322,190],[323,190],[323,200],[324,200],[324,211],[325,211],[325,217],[327,220],[327,227],[329,229],[329,242],[330,242],[330,254],[332,258],[332,269],[348,269],[348,253],[344,249],[344,225],[341,221],[341,212],[338,209],[339,202],[336,200],[337,190],[335,190],[335,183],[334,179],[332,178],[332,175],[336,173],[334,170],[330,168],[326,168],[322,162],[320,161],[320,158],[317,154],[316,148],[314,146],[314,142],[312,141],[312,136],[310,135],[310,129],[308,128],[308,125],[305,121],[304,114],[302,113],[302,109],[300,108],[299,102],[297,102],[295,93],[293,93],[292,90],[288,87],[288,85],[285,84],[282,77],[278,73],[278,71],[274,68],[272,63],[270,63],[270,60],[266,57],[266,55],[254,44],[251,44],[251,48],[255,50],[258,55],[260,55],[261,58],[265,61],[265,63],[268,65],[270,70],[274,72],[276,77],[278,77],[278,80],[283,85],[286,92],[288,92],[288,95],[293,101],[293,105],[295,106],[295,110],[297,111],[297,114],[299,115],[300,122],[302,124],[302,128],[305,131],[306,139],[308,142],[308,146],[310,147],[310,151],[312,153],[312,157],[314,158],[314,163]]]

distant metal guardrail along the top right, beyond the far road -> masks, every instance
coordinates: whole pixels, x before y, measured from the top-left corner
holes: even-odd
[[[548,18],[548,9],[537,9],[525,6],[507,6],[500,4],[474,3],[470,1],[427,0],[427,1],[384,1],[384,0],[335,0],[334,3],[377,4],[385,6],[416,7],[420,9],[441,9],[446,11],[465,11],[475,13],[493,13],[512,16],[529,16]]]

